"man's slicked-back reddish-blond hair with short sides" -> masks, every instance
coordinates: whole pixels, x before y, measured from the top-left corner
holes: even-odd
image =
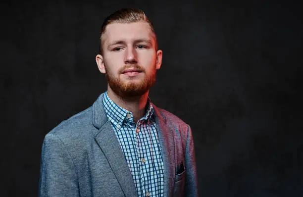
[[[139,8],[122,8],[114,13],[107,16],[101,26],[100,31],[100,46],[99,46],[99,52],[102,55],[103,49],[102,49],[102,35],[105,33],[106,26],[111,23],[133,23],[138,21],[145,21],[150,25],[151,31],[154,34],[154,40],[155,40],[155,49],[158,50],[158,43],[156,34],[154,31],[154,27],[152,25],[152,22],[148,19],[148,17],[145,15],[144,11]]]

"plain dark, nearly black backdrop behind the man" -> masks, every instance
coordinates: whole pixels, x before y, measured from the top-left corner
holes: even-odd
[[[163,63],[150,97],[193,130],[202,197],[303,196],[302,3],[1,3],[1,196],[37,196],[44,136],[106,90],[105,16],[152,20]]]

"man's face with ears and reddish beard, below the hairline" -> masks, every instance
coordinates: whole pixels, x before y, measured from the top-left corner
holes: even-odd
[[[155,51],[147,22],[112,23],[102,36],[103,54],[96,61],[109,88],[120,97],[142,96],[155,82],[162,51]]]

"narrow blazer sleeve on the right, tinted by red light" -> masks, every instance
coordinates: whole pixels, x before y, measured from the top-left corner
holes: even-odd
[[[186,166],[185,196],[199,197],[194,140],[193,140],[192,130],[189,125],[188,125],[186,153],[185,153],[185,166]]]

